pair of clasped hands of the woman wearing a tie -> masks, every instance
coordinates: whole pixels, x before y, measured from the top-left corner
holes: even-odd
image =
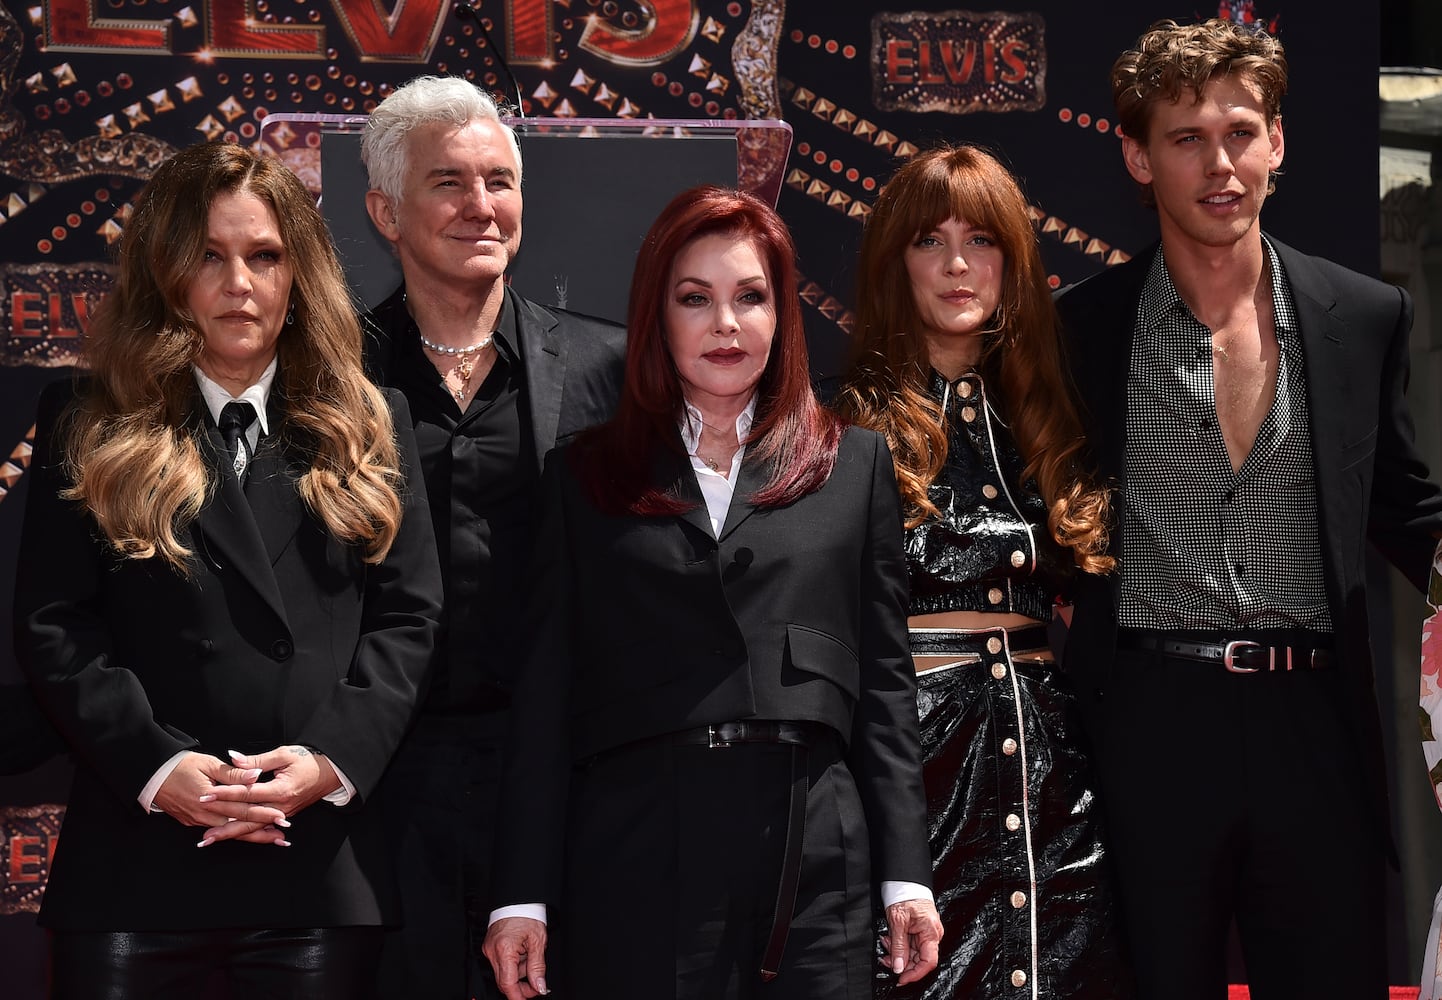
[[[261,775],[270,772],[270,781]],[[156,792],[154,805],[187,827],[205,827],[199,847],[221,840],[290,847],[288,817],[340,788],[323,753],[280,746],[247,756],[231,750],[226,763],[186,753]]]

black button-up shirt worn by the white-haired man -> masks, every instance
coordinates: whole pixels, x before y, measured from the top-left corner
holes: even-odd
[[[366,317],[366,369],[411,408],[446,583],[427,714],[503,709],[526,644],[521,586],[536,531],[531,408],[515,310],[506,296],[496,364],[461,413],[421,346],[404,286]]]

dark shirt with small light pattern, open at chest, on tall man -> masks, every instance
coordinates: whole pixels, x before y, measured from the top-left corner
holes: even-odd
[[[1217,426],[1211,330],[1177,294],[1161,253],[1142,287],[1126,377],[1125,628],[1332,628],[1296,309],[1266,251],[1276,400],[1236,472]]]

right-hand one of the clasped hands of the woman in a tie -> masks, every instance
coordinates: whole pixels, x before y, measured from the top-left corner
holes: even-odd
[[[249,781],[216,785],[200,797],[212,810],[221,810],[228,820],[212,824],[205,831],[211,840],[245,840],[261,844],[288,846],[281,830],[267,830],[268,824],[288,827],[286,817],[314,805],[340,788],[340,778],[324,753],[304,746],[278,746],[265,753],[245,756],[231,750],[232,771],[242,773],[271,772],[270,781]],[[236,814],[236,810],[244,815]],[[252,812],[260,810],[260,812]],[[278,814],[280,820],[258,820]],[[203,843],[203,841],[202,841]]]

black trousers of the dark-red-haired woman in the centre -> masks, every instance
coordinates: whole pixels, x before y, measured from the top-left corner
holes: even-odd
[[[806,750],[796,913],[763,984],[786,843],[790,746],[652,742],[572,776],[551,983],[568,1000],[870,1000],[865,817],[838,747]]]

